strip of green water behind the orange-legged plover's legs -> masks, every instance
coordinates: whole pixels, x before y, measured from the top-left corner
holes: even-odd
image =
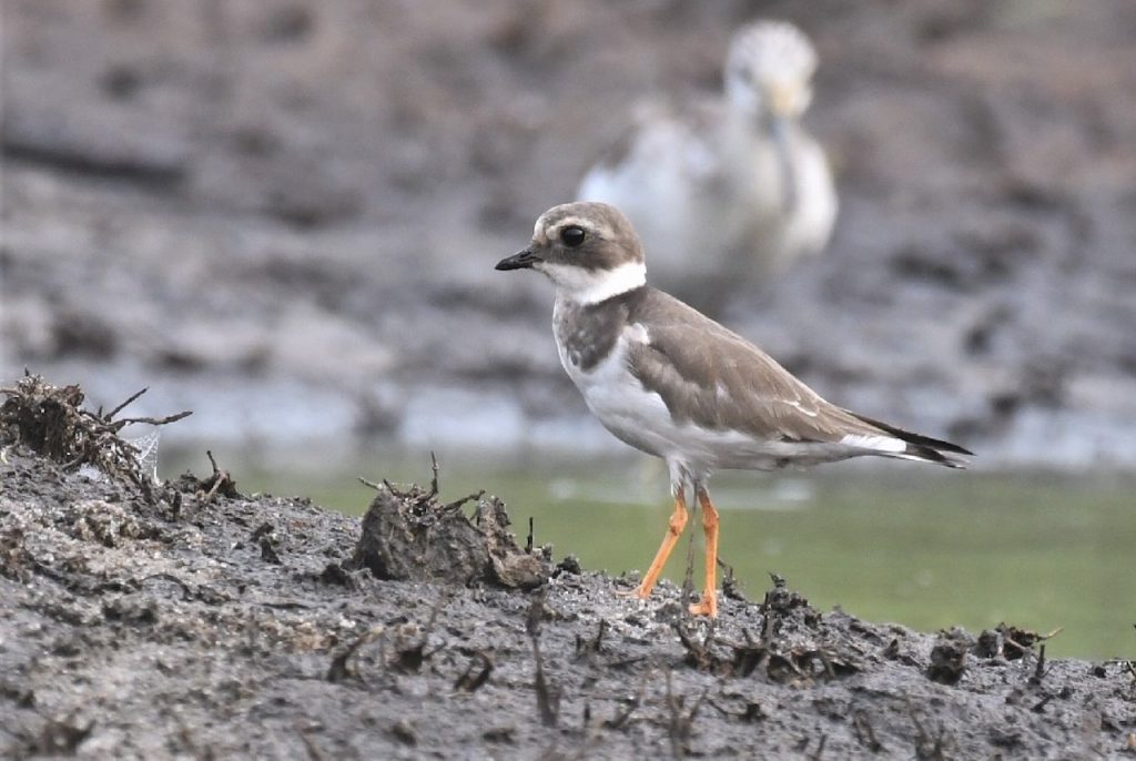
[[[460,461],[460,458],[453,458]],[[771,477],[724,474],[711,494],[721,512],[720,555],[749,596],[775,571],[815,605],[874,621],[972,633],[1006,621],[1061,633],[1051,655],[1136,657],[1136,500],[1130,478],[989,475],[852,463]],[[362,512],[370,490],[357,475],[429,479],[428,459],[371,459],[346,473],[252,469],[244,491],[303,494]],[[482,488],[509,504],[521,537],[557,558],[618,574],[644,569],[670,513],[667,476],[653,460],[443,463],[442,497]],[[701,543],[696,519],[687,528]],[[686,536],[665,576],[680,583]],[[701,544],[695,568],[701,567]],[[698,575],[696,575],[698,578]]]

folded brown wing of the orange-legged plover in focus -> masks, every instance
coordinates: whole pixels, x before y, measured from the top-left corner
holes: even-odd
[[[630,370],[677,420],[759,438],[833,442],[879,428],[829,404],[769,354],[682,302],[654,291],[629,321],[648,320]]]

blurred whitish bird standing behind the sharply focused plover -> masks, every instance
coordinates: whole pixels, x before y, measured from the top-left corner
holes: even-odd
[[[832,235],[832,172],[799,122],[816,68],[792,24],[746,25],[729,45],[725,98],[640,114],[576,198],[621,209],[654,282],[717,309],[729,286],[767,281]]]

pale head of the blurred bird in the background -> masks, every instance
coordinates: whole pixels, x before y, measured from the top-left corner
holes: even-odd
[[[812,99],[817,51],[787,22],[742,27],[726,57],[726,95],[734,108],[770,124],[795,119]]]

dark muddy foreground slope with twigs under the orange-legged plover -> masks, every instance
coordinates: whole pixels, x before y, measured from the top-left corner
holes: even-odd
[[[729,584],[717,621],[693,620],[676,586],[619,596],[634,574],[515,541],[500,500],[448,494],[444,474],[438,493],[436,471],[429,488],[376,483],[361,520],[243,495],[224,463],[165,484],[125,461],[80,475],[106,450],[28,432],[106,433],[114,416],[43,426],[50,403],[25,415],[12,398],[5,758],[1136,752],[1131,663],[1046,660],[1012,626],[924,634],[818,611],[779,579],[765,594]]]

